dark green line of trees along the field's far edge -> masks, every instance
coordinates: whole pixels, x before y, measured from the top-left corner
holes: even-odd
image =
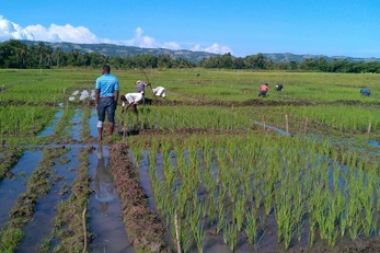
[[[216,69],[253,69],[253,70],[290,70],[321,71],[342,73],[380,73],[380,62],[353,62],[348,60],[327,61],[324,58],[306,59],[303,61],[275,62],[263,54],[246,57],[233,57],[230,53],[204,58],[198,64],[186,59],[173,58],[170,55],[153,56],[140,54],[134,56],[105,56],[100,53],[80,53],[78,49],[64,51],[38,42],[30,45],[10,39],[0,44],[0,68],[65,68],[90,67],[100,68],[110,64],[116,69],[131,68],[216,68]]]

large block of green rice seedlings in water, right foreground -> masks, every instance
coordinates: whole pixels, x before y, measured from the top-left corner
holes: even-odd
[[[347,168],[347,175],[344,175],[342,158],[329,142],[318,146],[296,138],[266,139],[251,135],[233,139],[203,137],[200,141],[199,137],[195,137],[172,141],[161,147],[166,161],[163,182],[158,177],[156,165],[150,169],[156,185],[154,197],[160,203],[158,209],[163,211],[172,228],[172,234],[175,233],[175,211],[180,223],[193,222],[193,241],[198,251],[205,242],[201,240],[204,229],[214,222],[217,233],[222,232],[230,249],[234,249],[235,234],[242,231],[250,234],[251,243],[257,243],[257,220],[265,219],[257,211],[262,204],[265,216],[275,210],[278,242],[284,242],[285,249],[289,248],[295,237],[301,241],[306,223],[309,223],[310,245],[315,241],[318,231],[320,238],[331,245],[336,243],[338,234],[345,235],[342,229],[348,230],[353,240],[360,235],[360,231],[366,230],[366,234],[378,232],[375,212],[379,205],[376,205],[373,189],[379,179],[373,173],[368,174],[372,176],[367,180],[371,184],[356,186],[355,171],[364,171],[364,168]],[[173,158],[168,158],[173,156],[168,151],[171,146],[174,146],[175,165]],[[331,154],[331,158],[325,154]],[[350,156],[347,153],[344,161],[357,159],[355,153]],[[256,189],[255,185],[261,186]],[[359,197],[359,193],[362,196]],[[197,225],[192,221],[194,216],[198,219]],[[251,217],[256,218],[252,221]],[[309,217],[309,222],[304,222],[306,217]],[[199,231],[194,231],[195,228]],[[368,237],[366,234],[362,235]]]

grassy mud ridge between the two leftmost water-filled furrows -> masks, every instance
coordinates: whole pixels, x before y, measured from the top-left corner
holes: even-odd
[[[10,220],[0,231],[0,252],[14,252],[23,238],[22,229],[33,217],[37,200],[51,188],[54,160],[68,152],[67,148],[46,148],[42,161],[31,175],[25,193],[22,193],[10,211]]]

